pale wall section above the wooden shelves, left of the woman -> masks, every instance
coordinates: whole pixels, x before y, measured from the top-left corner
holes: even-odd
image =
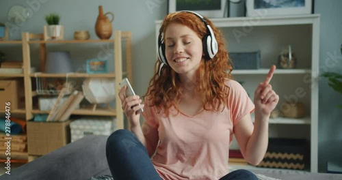
[[[0,0],[1,23],[10,23],[7,14],[12,5],[28,7],[31,10],[31,16],[23,24],[11,23],[13,25],[11,39],[20,39],[22,31],[42,33],[43,26],[46,25],[44,16],[49,13],[58,13],[62,16],[60,24],[65,28],[64,39],[73,39],[74,31],[80,29],[90,31],[90,37],[96,39],[94,25],[98,16],[98,5],[103,5],[103,12],[113,12],[115,15],[112,23],[114,30],[133,33],[134,89],[139,95],[146,92],[156,61],[154,22],[166,15],[166,0]],[[95,50],[101,50],[101,48],[96,47]],[[14,54],[18,53],[14,52]],[[11,56],[17,58],[16,55],[9,55]]]

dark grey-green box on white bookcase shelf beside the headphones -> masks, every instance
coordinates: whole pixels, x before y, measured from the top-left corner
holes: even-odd
[[[260,51],[231,52],[228,54],[235,70],[258,70],[261,63]]]

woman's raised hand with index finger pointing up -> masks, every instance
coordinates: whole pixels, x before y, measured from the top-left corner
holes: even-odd
[[[259,112],[259,115],[262,115],[263,117],[269,117],[279,101],[279,95],[276,94],[272,89],[272,86],[269,85],[275,70],[276,66],[272,65],[265,80],[259,84],[254,92],[255,112]]]

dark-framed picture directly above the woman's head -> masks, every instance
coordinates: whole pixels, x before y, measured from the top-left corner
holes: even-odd
[[[225,7],[226,0],[168,0],[168,13],[189,10],[207,18],[223,18]]]

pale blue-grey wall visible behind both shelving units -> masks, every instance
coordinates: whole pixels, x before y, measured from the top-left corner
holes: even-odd
[[[94,24],[98,15],[98,5],[104,12],[115,14],[114,30],[133,33],[133,78],[137,94],[146,92],[148,81],[153,74],[155,57],[155,20],[162,19],[167,13],[166,0],[0,0],[0,22],[8,22],[7,12],[12,5],[25,5],[32,10],[31,17],[23,25],[17,25],[12,38],[19,38],[21,31],[42,33],[44,16],[51,12],[61,14],[61,24],[65,26],[65,39],[72,39],[73,32],[88,29],[96,38]],[[320,70],[341,72],[342,43],[342,1],[315,0],[315,13],[321,14]],[[0,50],[1,50],[0,46]],[[339,63],[332,67],[326,65],[329,53],[337,55]],[[13,54],[18,54],[13,52]],[[20,54],[19,54],[20,55]],[[12,55],[15,56],[15,55]],[[326,171],[326,162],[342,160],[342,110],[335,104],[342,104],[342,95],[328,87],[328,81],[319,81],[319,171]]]

